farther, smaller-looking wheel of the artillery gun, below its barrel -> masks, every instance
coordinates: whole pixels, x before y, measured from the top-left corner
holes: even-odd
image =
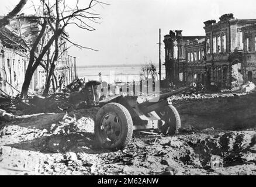
[[[158,129],[161,133],[174,135],[178,133],[178,129],[181,128],[181,118],[177,109],[168,105],[157,111],[161,120],[158,121]]]

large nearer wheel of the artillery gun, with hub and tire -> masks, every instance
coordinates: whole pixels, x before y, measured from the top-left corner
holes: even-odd
[[[108,103],[99,109],[94,131],[101,147],[122,150],[132,138],[132,116],[123,105]]]

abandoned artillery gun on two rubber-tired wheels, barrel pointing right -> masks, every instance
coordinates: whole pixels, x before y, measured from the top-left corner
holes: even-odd
[[[160,130],[161,133],[174,135],[181,127],[179,113],[172,106],[172,95],[177,95],[196,88],[196,84],[161,94],[146,102],[138,103],[136,96],[112,96],[102,101],[96,92],[95,85],[89,82],[86,86],[91,91],[95,106],[100,106],[95,119],[95,136],[102,148],[122,150],[132,139],[134,130]],[[91,105],[92,106],[92,105]]]

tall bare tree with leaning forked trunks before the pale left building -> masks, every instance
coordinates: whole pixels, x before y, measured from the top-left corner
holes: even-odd
[[[70,6],[68,6],[65,3],[65,0],[56,0],[56,2],[53,5],[50,4],[50,0],[47,2],[45,2],[45,0],[41,0],[40,2],[42,3],[41,6],[43,7],[43,10],[44,10],[43,15],[30,16],[30,18],[41,20],[42,23],[41,23],[41,30],[37,35],[36,40],[33,43],[32,49],[30,50],[29,64],[27,65],[25,80],[22,86],[22,93],[21,93],[22,97],[27,96],[30,81],[33,77],[34,71],[36,71],[36,68],[41,64],[41,61],[43,60],[47,51],[49,51],[50,47],[53,45],[54,41],[55,41],[54,58],[53,58],[53,62],[51,63],[47,82],[50,82],[49,81],[50,77],[51,75],[53,75],[53,72],[55,69],[55,62],[58,60],[57,44],[58,44],[58,39],[60,37],[67,40],[74,46],[79,47],[80,49],[91,49],[91,48],[73,43],[70,39],[68,39],[68,37],[64,36],[63,33],[65,32],[65,28],[69,25],[75,25],[80,29],[85,29],[88,31],[95,30],[94,27],[89,25],[88,21],[98,23],[97,19],[100,19],[100,18],[98,14],[90,11],[97,4],[105,4],[100,1],[90,0],[87,7],[78,8],[79,0],[77,0],[77,4],[75,5],[75,8],[70,8]],[[56,11],[54,11],[54,9]],[[26,18],[26,17],[23,17],[23,18]],[[39,46],[41,38],[44,36],[44,33],[46,32],[47,25],[51,27],[51,29],[53,30],[53,34],[51,34],[49,41],[47,41],[47,43],[44,44],[44,46],[42,47],[42,50],[40,51],[40,54],[38,55],[38,57],[36,57],[35,52],[37,50],[37,47]]]

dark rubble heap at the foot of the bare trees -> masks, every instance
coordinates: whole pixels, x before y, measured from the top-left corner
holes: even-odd
[[[50,92],[47,97],[39,96],[40,91],[35,93],[31,92],[31,90],[29,90],[30,96],[26,99],[20,99],[19,95],[16,98],[11,98],[8,95],[0,95],[0,109],[15,116],[71,111],[74,109],[74,105],[69,102],[70,93],[79,91],[84,85],[85,82],[82,79],[76,78],[62,92]]]

